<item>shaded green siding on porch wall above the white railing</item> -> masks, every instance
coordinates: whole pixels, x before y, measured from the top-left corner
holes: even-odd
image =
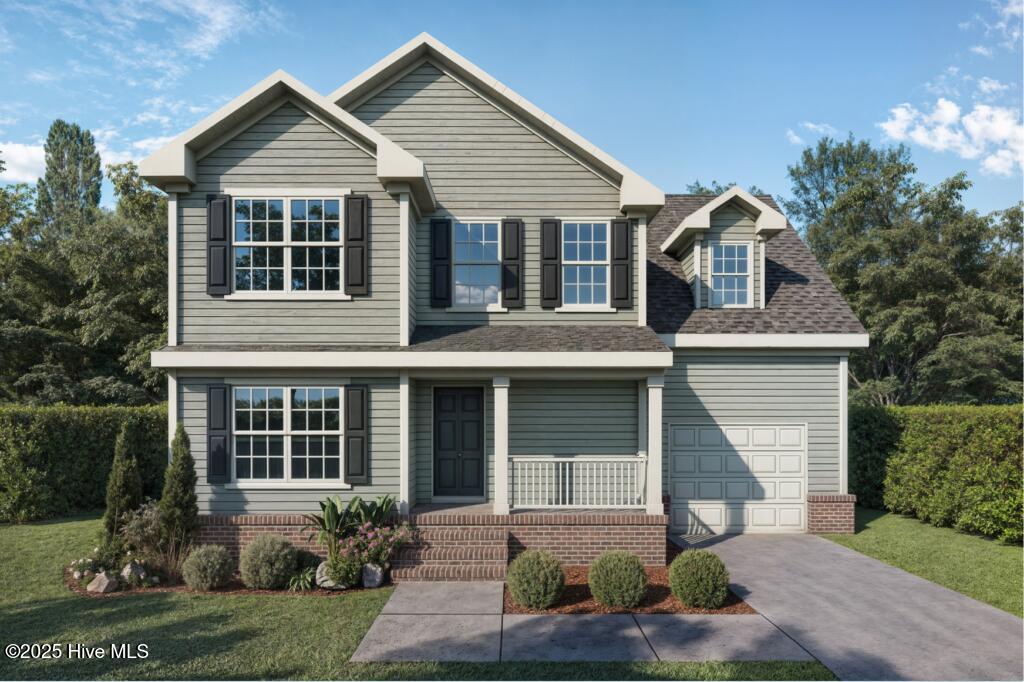
[[[633,381],[515,381],[510,455],[636,455]]]

